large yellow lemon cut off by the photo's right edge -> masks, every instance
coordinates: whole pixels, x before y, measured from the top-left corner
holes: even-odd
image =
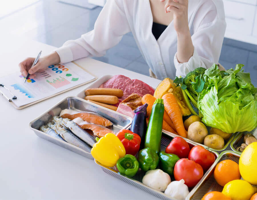
[[[257,142],[248,145],[239,159],[239,171],[242,178],[257,185]]]

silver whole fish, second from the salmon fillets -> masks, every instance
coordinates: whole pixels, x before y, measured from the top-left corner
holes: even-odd
[[[75,145],[87,152],[90,153],[91,148],[87,143],[83,140],[79,139],[76,135],[74,135],[69,129],[66,129],[63,125],[57,123],[55,126],[55,131],[68,143]]]

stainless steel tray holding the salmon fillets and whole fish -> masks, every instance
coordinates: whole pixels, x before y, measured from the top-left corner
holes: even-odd
[[[30,129],[32,129],[37,136],[42,137],[52,143],[64,147],[65,149],[69,149],[75,153],[78,153],[90,159],[93,159],[90,152],[84,151],[79,147],[71,145],[65,141],[52,137],[38,130],[40,126],[45,125],[47,122],[51,121],[54,115],[59,115],[61,110],[63,109],[73,109],[77,111],[92,111],[98,113],[103,117],[109,119],[113,123],[113,131],[116,133],[120,129],[126,129],[132,121],[131,117],[128,117],[121,113],[117,113],[110,109],[106,109],[102,106],[98,106],[84,99],[80,99],[78,97],[66,97],[65,99],[63,99],[62,101],[60,101],[59,103],[57,103],[49,110],[45,111],[43,114],[41,114],[39,117],[37,117],[29,123]]]

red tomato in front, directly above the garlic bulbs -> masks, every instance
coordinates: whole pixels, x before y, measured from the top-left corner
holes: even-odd
[[[203,176],[201,165],[195,161],[182,158],[178,160],[174,167],[174,177],[176,181],[184,179],[187,187],[194,187]]]

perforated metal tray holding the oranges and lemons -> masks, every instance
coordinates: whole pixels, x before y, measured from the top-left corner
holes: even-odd
[[[211,191],[219,191],[221,192],[223,187],[220,186],[214,179],[214,169],[216,165],[223,160],[230,159],[238,163],[240,158],[240,154],[234,151],[223,151],[218,159],[213,163],[211,168],[206,172],[204,178],[200,181],[200,183],[191,190],[191,192],[186,197],[186,200],[194,200],[194,199],[202,199],[202,197]]]

